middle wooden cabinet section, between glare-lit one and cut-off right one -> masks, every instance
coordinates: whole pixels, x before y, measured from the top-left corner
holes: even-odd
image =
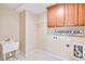
[[[77,26],[77,4],[66,4],[66,26]]]

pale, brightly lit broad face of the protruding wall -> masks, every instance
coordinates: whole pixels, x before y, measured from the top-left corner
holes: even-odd
[[[37,38],[38,38],[38,28],[37,28],[37,15],[26,11],[26,50],[27,54],[37,49]]]

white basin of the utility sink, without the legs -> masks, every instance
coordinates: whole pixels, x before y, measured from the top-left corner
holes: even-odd
[[[17,41],[4,41],[0,42],[0,47],[2,48],[3,53],[14,51],[18,49],[18,42]]]

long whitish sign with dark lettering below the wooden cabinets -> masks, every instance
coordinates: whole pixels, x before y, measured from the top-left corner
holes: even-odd
[[[53,31],[54,35],[60,36],[84,36],[84,29],[77,28],[55,28]]]

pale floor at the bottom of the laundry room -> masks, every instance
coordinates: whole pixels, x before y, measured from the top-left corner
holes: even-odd
[[[10,61],[61,61],[61,60],[46,53],[45,51],[37,50],[27,57],[18,55],[17,60],[11,59]]]

